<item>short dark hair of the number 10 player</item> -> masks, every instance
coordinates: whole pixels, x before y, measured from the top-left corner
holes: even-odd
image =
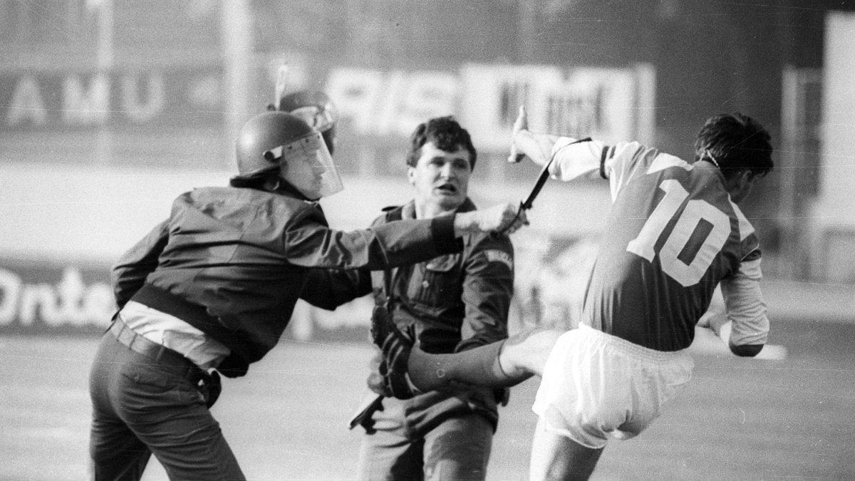
[[[739,112],[712,116],[695,140],[695,160],[711,160],[725,178],[746,169],[762,177],[775,166],[771,140],[769,132],[750,116]]]

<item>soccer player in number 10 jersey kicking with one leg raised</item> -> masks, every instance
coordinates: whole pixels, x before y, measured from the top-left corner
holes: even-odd
[[[540,376],[531,479],[587,479],[609,438],[636,436],[657,418],[692,376],[686,348],[716,285],[734,354],[757,355],[769,333],[758,239],[737,206],[773,168],[763,126],[739,113],[711,117],[693,162],[638,142],[574,141],[531,133],[521,108],[510,158],[549,163],[561,181],[610,182],[612,206],[579,329],[526,330],[454,354],[410,349],[394,330],[383,343],[397,396]]]

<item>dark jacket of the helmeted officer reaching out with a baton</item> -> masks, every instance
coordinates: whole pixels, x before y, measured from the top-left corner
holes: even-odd
[[[453,218],[329,229],[316,203],[252,188],[203,187],[112,270],[115,300],[166,312],[220,341],[245,374],[279,341],[310,268],[382,270],[458,252]]]

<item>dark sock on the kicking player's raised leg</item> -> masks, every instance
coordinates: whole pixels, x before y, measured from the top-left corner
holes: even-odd
[[[413,347],[407,365],[410,383],[423,392],[467,389],[472,386],[510,388],[531,377],[528,372],[507,374],[498,362],[504,341],[451,354],[428,354]]]

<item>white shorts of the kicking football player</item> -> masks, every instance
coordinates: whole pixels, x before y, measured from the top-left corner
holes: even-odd
[[[656,351],[581,324],[552,347],[532,410],[546,431],[603,448],[644,431],[693,367],[685,350]]]

